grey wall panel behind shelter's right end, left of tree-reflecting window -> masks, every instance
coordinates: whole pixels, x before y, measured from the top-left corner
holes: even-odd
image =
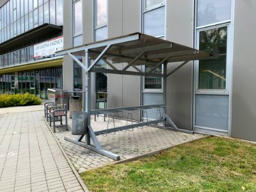
[[[166,1],[166,40],[193,47],[193,1]],[[177,66],[169,64],[168,72]],[[167,79],[167,105],[180,129],[193,129],[193,65],[187,63]]]

